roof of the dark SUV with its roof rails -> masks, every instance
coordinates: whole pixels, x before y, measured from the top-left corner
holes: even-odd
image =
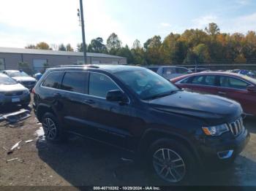
[[[56,70],[56,69],[95,69],[99,71],[108,71],[109,73],[116,73],[121,71],[135,71],[144,69],[140,66],[125,66],[125,65],[110,65],[110,64],[93,64],[93,65],[74,65],[74,66],[59,66],[58,68],[52,68],[48,70]]]

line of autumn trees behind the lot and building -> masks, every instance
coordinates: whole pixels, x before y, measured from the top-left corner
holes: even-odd
[[[83,52],[83,44],[74,50],[70,44],[49,46],[45,42],[30,44],[26,48]],[[189,29],[183,34],[170,33],[161,39],[153,36],[143,45],[138,39],[129,47],[122,45],[113,33],[106,44],[98,37],[86,44],[87,52],[107,53],[127,58],[127,63],[136,65],[195,64],[195,63],[255,63],[256,34],[221,33],[216,23],[209,23],[204,30]]]

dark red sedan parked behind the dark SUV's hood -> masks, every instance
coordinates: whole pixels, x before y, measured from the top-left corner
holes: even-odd
[[[220,95],[238,101],[246,114],[256,116],[256,79],[229,72],[200,72],[170,79],[192,92]]]

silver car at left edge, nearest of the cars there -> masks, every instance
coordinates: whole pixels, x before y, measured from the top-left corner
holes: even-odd
[[[28,88],[20,85],[6,74],[0,74],[0,106],[10,106],[10,104],[28,106],[29,102]]]

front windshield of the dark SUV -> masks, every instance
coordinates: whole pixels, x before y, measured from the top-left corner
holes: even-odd
[[[179,90],[167,79],[148,69],[121,71],[116,73],[116,77],[121,79],[143,100],[163,97]]]

